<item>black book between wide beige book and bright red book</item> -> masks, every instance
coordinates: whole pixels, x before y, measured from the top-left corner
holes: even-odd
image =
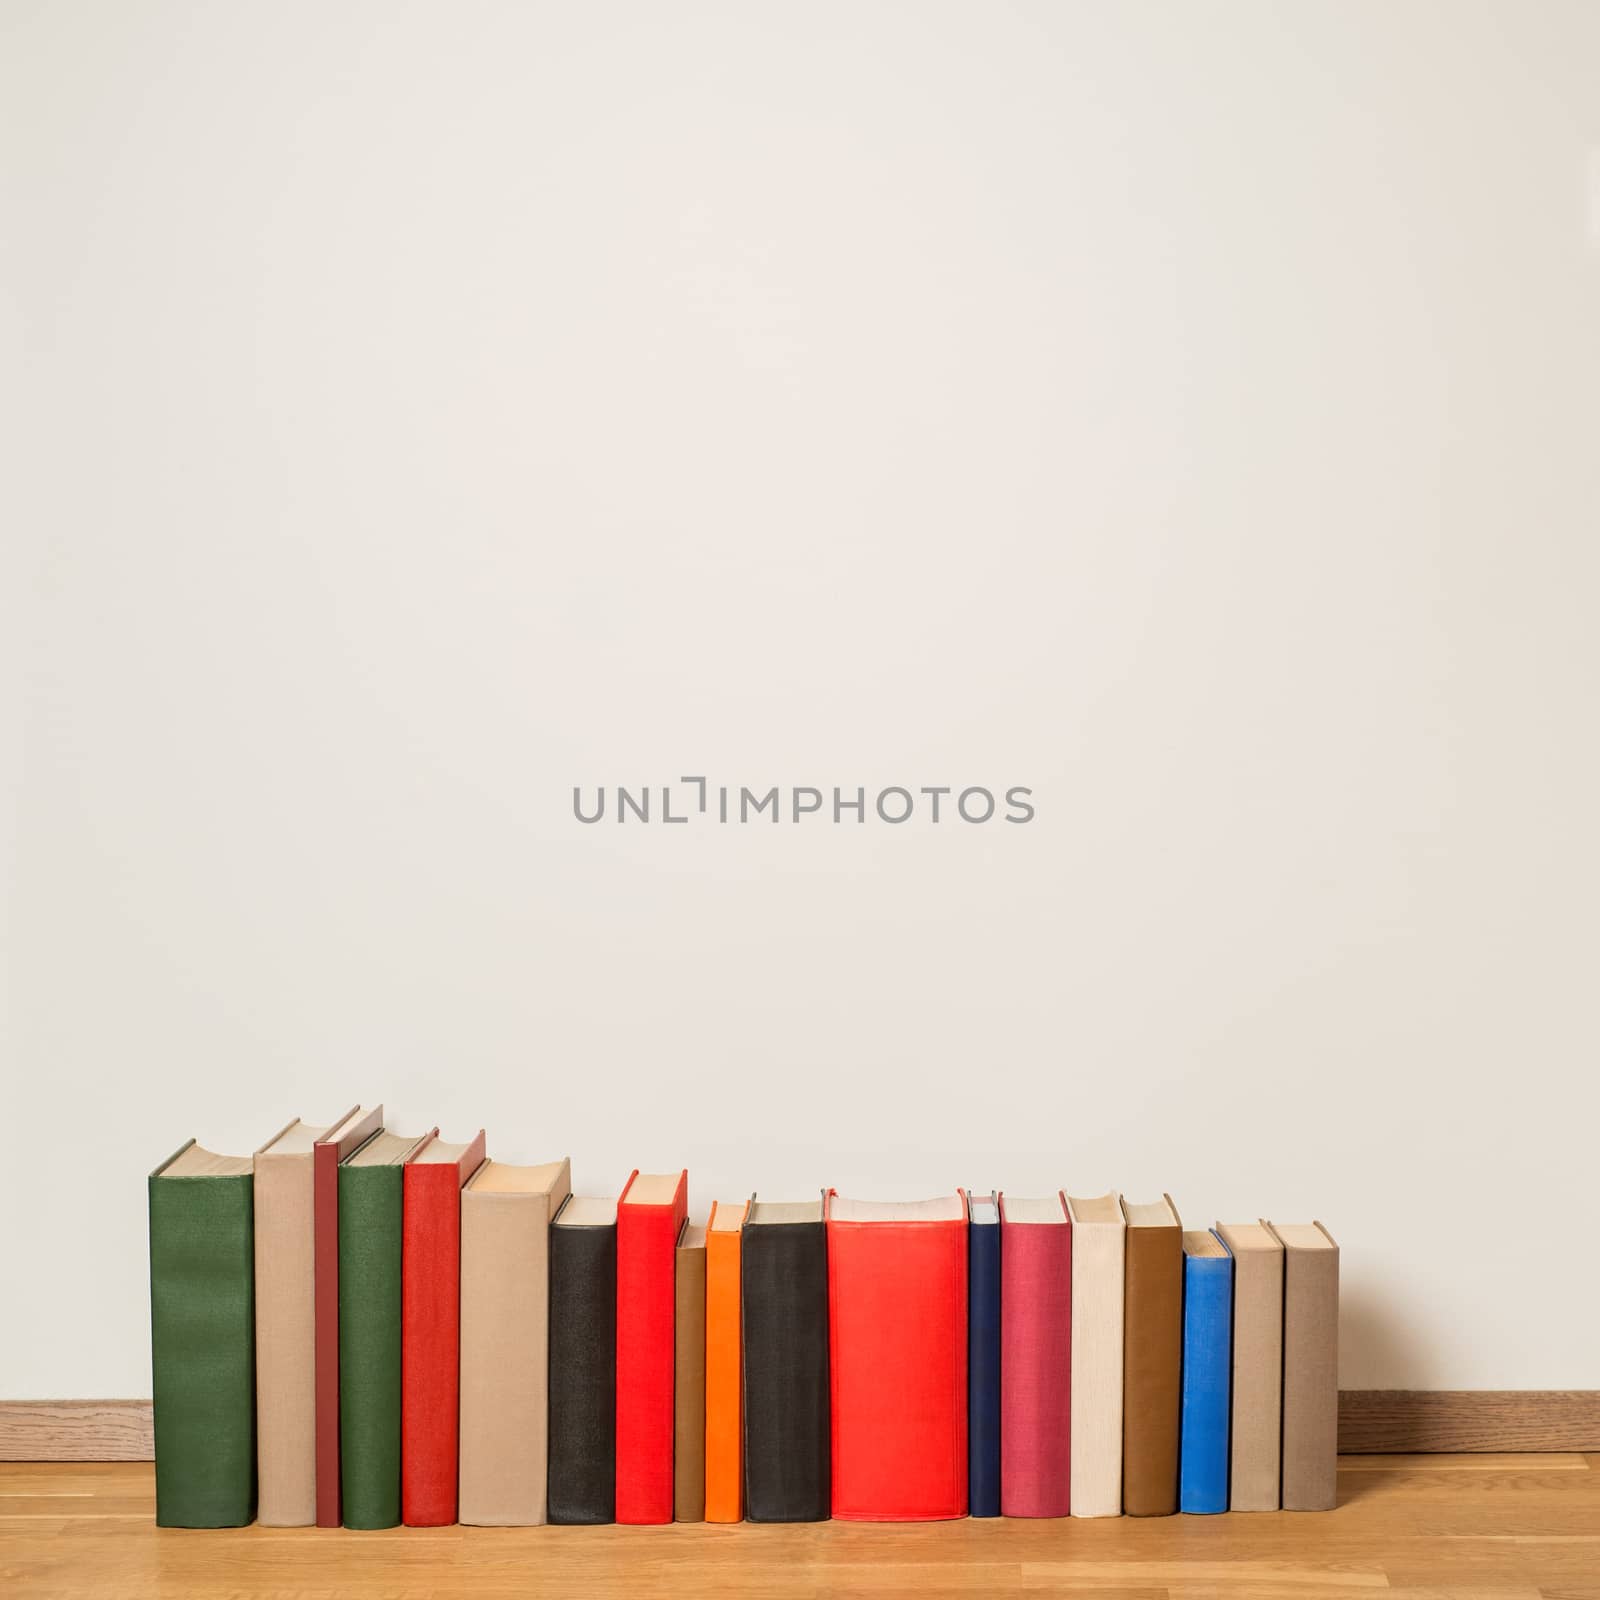
[[[549,1517],[616,1522],[616,1202],[570,1195],[550,1224]]]

